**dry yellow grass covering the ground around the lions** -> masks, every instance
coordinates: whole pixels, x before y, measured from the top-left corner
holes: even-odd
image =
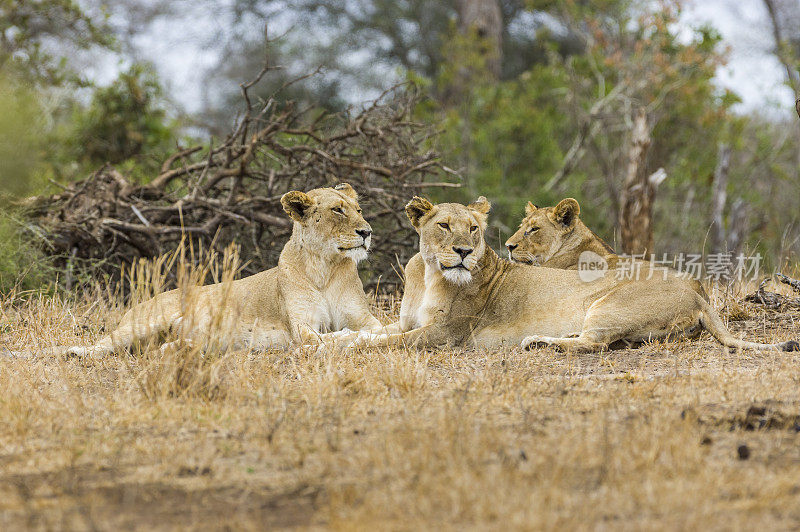
[[[800,314],[725,297],[732,329],[800,337]],[[0,348],[87,343],[119,313],[1,303]],[[586,356],[4,359],[0,528],[796,528],[798,384],[797,353],[707,335]]]

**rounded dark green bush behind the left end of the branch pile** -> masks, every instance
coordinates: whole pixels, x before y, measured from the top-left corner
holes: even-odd
[[[108,87],[96,89],[89,107],[75,114],[76,158],[89,167],[131,159],[144,166],[154,164],[148,157],[162,155],[175,136],[161,97],[155,74],[141,64],[121,73]]]

